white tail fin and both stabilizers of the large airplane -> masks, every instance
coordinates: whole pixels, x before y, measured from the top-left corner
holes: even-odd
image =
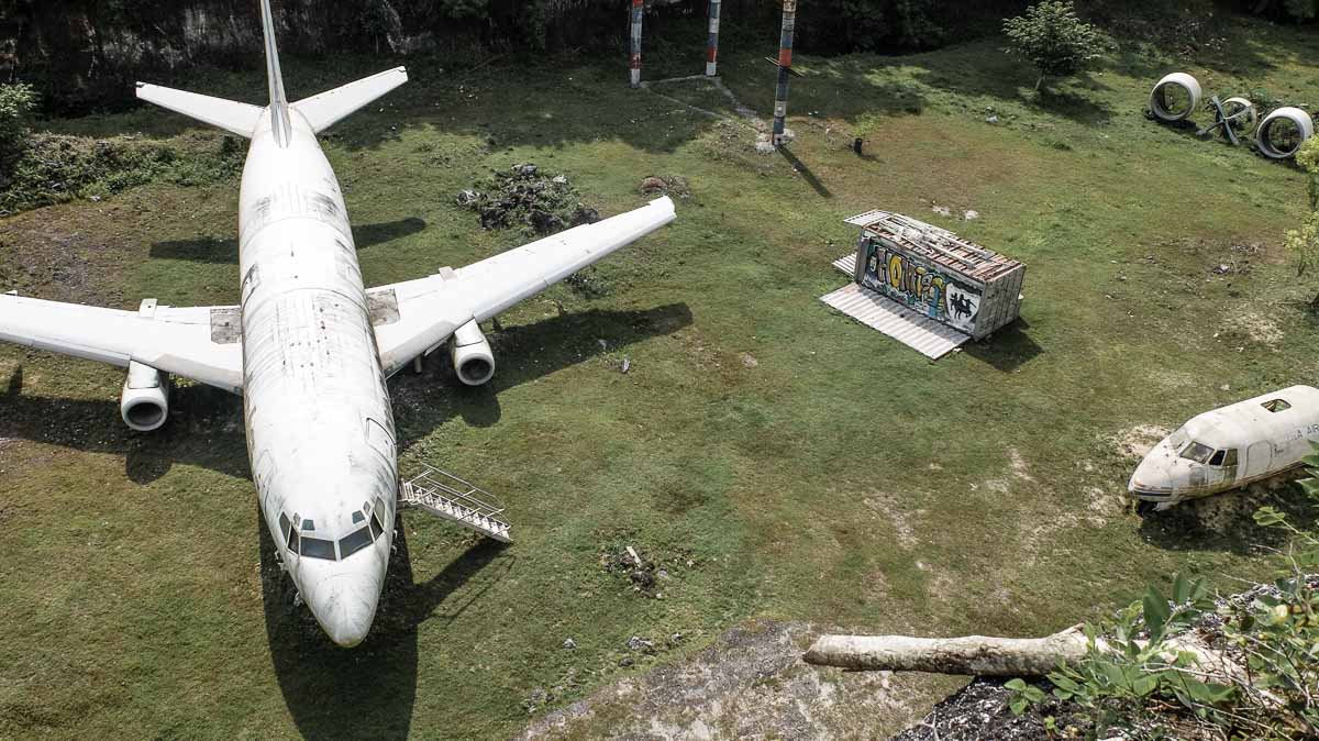
[[[408,70],[396,67],[290,104],[284,91],[284,73],[280,70],[280,47],[274,41],[270,0],[261,0],[261,32],[265,37],[265,71],[270,87],[270,128],[280,146],[288,146],[293,138],[291,111],[306,117],[313,131],[321,133],[408,82]],[[265,108],[257,105],[141,82],[137,83],[137,98],[247,138],[252,138],[256,133],[265,113]]]

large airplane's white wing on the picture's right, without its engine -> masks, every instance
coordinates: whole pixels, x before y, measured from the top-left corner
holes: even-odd
[[[674,220],[661,198],[458,270],[367,291],[386,374],[431,352],[463,324],[484,322]]]

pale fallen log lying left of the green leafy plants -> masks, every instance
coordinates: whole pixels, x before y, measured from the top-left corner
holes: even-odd
[[[910,636],[822,636],[806,663],[861,671],[930,671],[975,676],[1042,676],[1059,662],[1086,655],[1080,626],[1046,638],[913,638]]]

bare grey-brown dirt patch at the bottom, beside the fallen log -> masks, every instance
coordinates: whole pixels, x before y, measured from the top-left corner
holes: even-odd
[[[735,628],[682,663],[538,719],[518,738],[882,738],[915,720],[919,679],[813,667],[802,653],[815,633],[801,622]]]

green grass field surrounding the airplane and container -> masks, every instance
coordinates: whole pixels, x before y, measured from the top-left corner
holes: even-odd
[[[119,370],[0,348],[0,737],[506,737],[753,616],[1042,634],[1178,570],[1223,587],[1262,574],[1248,509],[1142,521],[1122,501],[1130,430],[1319,372],[1315,285],[1282,253],[1302,174],[1141,113],[1175,69],[1210,94],[1319,104],[1319,37],[1232,29],[1194,61],[1119,54],[1038,99],[995,40],[806,57],[782,156],[756,154],[739,121],[629,90],[617,59],[410,61],[413,83],[326,144],[368,283],[525,241],[454,203],[489,169],[565,173],[605,214],[640,206],[646,175],[690,183],[671,227],[599,268],[605,295],[559,286],[501,318],[489,386],[462,388],[443,361],[390,385],[405,471],[433,461],[501,494],[516,545],[405,514],[371,637],[335,649],[278,579],[236,398],[185,385],[169,426],[136,435]],[[768,53],[721,63],[761,116]],[[649,76],[687,74],[700,51],[650,61]],[[294,95],[389,62],[314,65],[285,61]],[[253,102],[264,84],[162,82]],[[702,83],[665,94],[727,107]],[[145,108],[49,127],[220,146]],[[149,185],[0,219],[0,285],[236,302],[236,196]],[[845,282],[830,266],[855,236],[842,220],[876,207],[1026,262],[1021,323],[930,364],[820,305]],[[665,564],[658,595],[607,568],[628,545]],[[673,633],[677,647],[619,666],[630,636]],[[950,687],[913,682],[930,703]]]

